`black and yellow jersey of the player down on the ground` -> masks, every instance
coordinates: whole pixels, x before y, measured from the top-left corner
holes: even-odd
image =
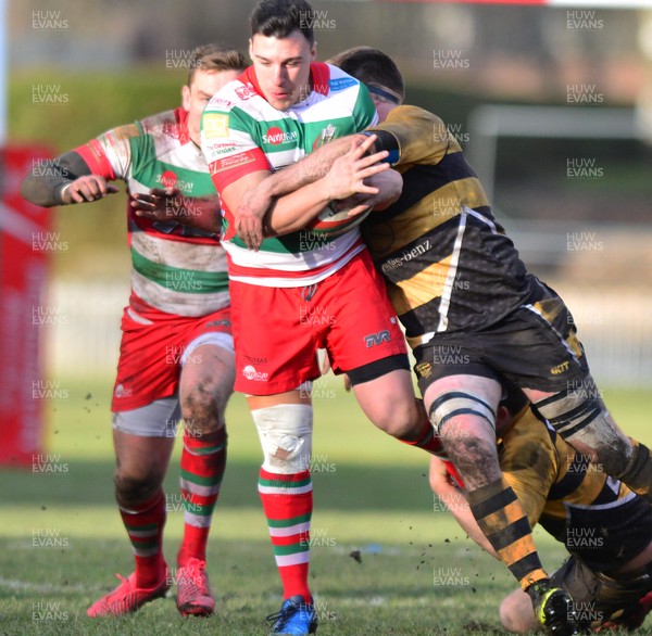
[[[590,568],[609,572],[652,540],[652,508],[577,453],[527,408],[499,442],[503,474],[525,509]]]

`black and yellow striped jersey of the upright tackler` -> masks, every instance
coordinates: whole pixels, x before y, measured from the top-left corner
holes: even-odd
[[[441,119],[398,106],[369,130],[403,192],[369,215],[363,236],[411,346],[437,332],[478,331],[542,297]]]

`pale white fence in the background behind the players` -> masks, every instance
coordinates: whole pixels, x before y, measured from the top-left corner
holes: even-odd
[[[607,386],[652,387],[652,294],[555,283],[573,311],[593,376]],[[120,347],[126,283],[57,281],[45,306],[51,376],[112,376]]]

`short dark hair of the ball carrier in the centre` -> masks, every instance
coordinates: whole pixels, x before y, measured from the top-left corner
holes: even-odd
[[[299,29],[313,44],[314,11],[305,0],[261,0],[249,17],[252,37],[287,38]]]

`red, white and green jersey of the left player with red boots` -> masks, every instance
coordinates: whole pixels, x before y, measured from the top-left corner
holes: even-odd
[[[195,199],[217,196],[183,109],[112,128],[75,151],[95,175],[124,180],[129,200],[165,187],[180,190],[187,198],[184,207]],[[138,217],[130,205],[127,215],[133,302],[190,317],[228,306],[226,254],[216,237],[176,221]]]

